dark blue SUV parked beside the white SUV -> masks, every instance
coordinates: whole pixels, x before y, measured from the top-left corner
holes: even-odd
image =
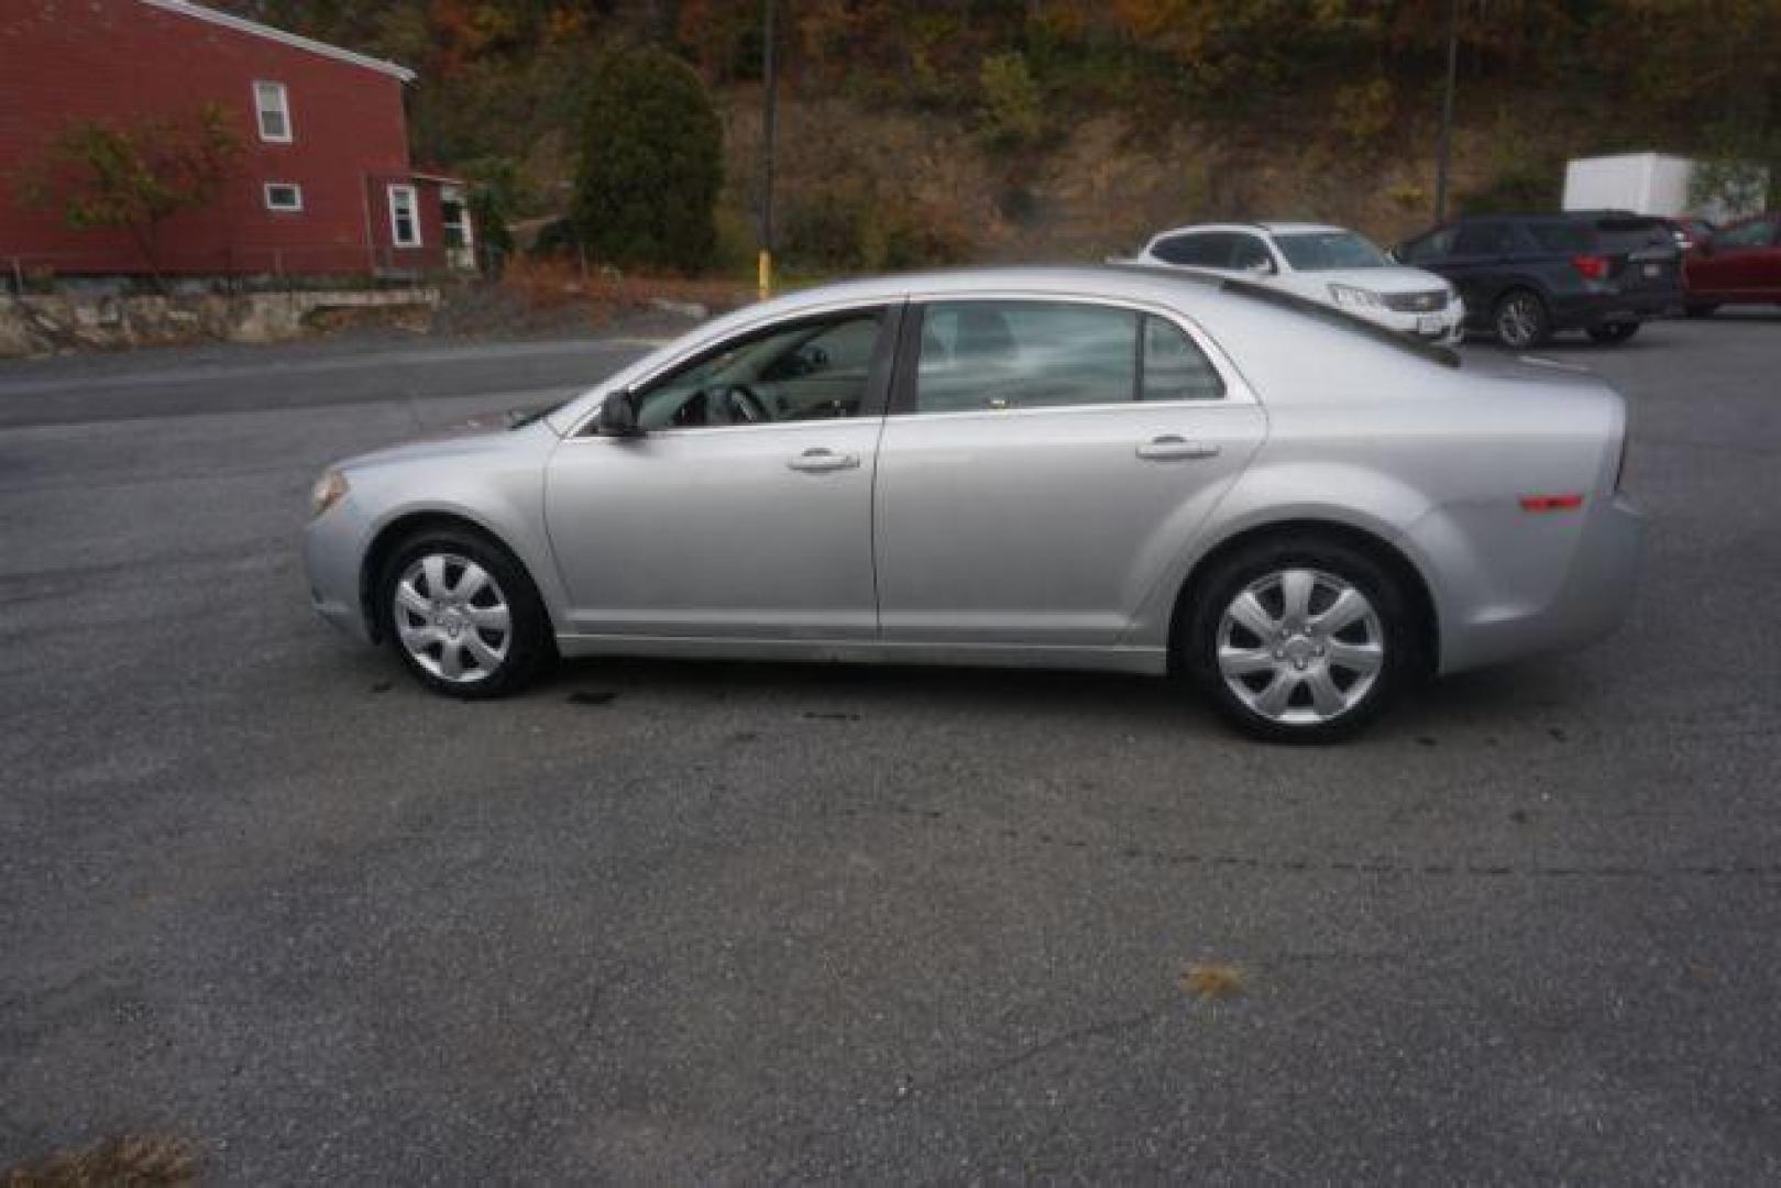
[[[1647,317],[1681,308],[1681,253],[1663,219],[1624,212],[1478,216],[1398,244],[1402,264],[1453,281],[1466,324],[1503,346],[1558,330],[1626,342]]]

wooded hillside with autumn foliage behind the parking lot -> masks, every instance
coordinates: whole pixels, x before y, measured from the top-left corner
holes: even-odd
[[[417,68],[417,157],[513,219],[572,214],[602,62],[671,55],[712,96],[723,178],[711,237],[675,258],[748,267],[760,0],[223,7]],[[1446,16],[1446,0],[778,0],[782,256],[1081,258],[1204,217],[1395,239],[1432,210]],[[1462,208],[1553,205],[1578,153],[1781,166],[1777,116],[1781,0],[1459,4]]]

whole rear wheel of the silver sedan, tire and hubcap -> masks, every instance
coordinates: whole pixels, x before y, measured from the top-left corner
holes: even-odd
[[[1261,541],[1199,586],[1186,668],[1256,737],[1350,737],[1416,671],[1414,611],[1398,579],[1341,541]]]

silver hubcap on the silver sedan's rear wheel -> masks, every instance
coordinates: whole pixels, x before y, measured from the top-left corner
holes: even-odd
[[[1366,700],[1386,663],[1378,613],[1320,570],[1250,582],[1218,620],[1218,671],[1268,721],[1316,725]]]

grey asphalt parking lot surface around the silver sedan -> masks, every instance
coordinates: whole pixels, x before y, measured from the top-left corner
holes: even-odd
[[[1551,347],[1631,401],[1631,622],[1336,750],[1136,677],[461,705],[312,616],[326,461],[636,349],[0,363],[0,1168],[1781,1176],[1781,315]]]

